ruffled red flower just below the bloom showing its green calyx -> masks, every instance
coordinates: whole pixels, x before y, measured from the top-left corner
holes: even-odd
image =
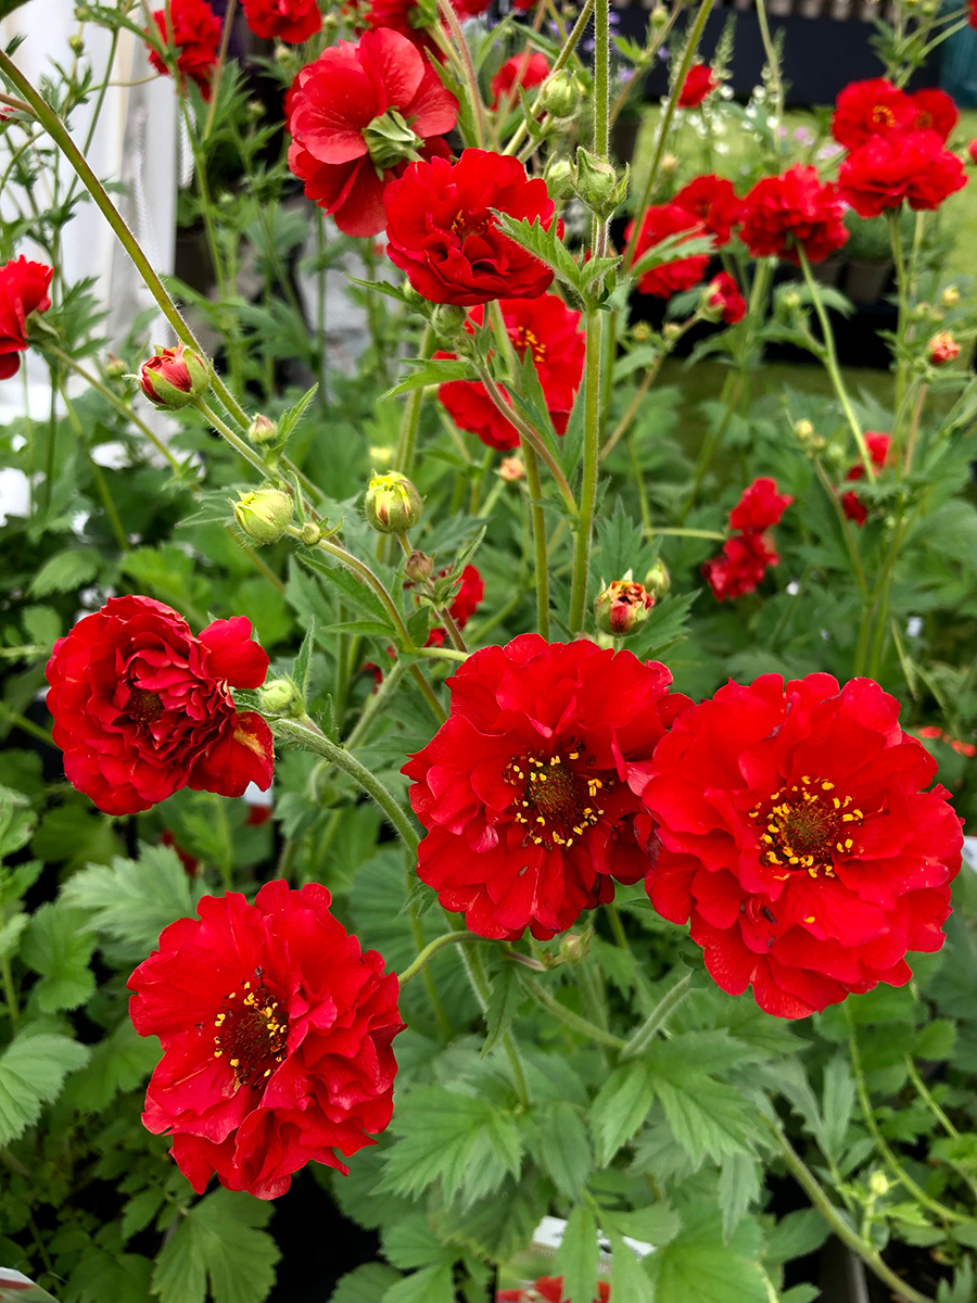
[[[457,163],[412,163],[387,186],[387,253],[432,304],[470,308],[492,298],[538,298],[550,268],[504,236],[498,208],[516,219],[554,220],[546,181],[504,154],[465,150]]]

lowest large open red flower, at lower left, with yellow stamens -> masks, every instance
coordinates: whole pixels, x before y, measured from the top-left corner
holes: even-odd
[[[203,896],[129,979],[133,1025],[163,1046],[142,1121],[198,1195],[215,1174],[276,1199],[306,1162],[347,1173],[339,1154],[391,1119],[397,979],[330,904],[318,882]]]

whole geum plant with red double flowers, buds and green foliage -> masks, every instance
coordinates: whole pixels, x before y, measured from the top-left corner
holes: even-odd
[[[762,0],[745,107],[731,33],[697,56],[711,0],[645,43],[604,0],[482,8],[244,0],[284,133],[233,3],[82,4],[40,90],[0,55],[5,177],[51,177],[4,227],[0,374],[30,347],[52,391],[3,434],[31,494],[3,718],[68,780],[0,760],[0,1257],[64,1303],[259,1303],[267,1200],[311,1199],[311,1164],[379,1233],[333,1303],[804,1303],[831,1231],[887,1295],[970,1303],[974,900],[934,754],[969,814],[973,304],[939,266],[957,113],[904,90],[967,20],[899,5],[886,76],[799,150]],[[92,25],[173,78],[206,293],[69,133],[111,76]],[[629,188],[608,133],[662,50]],[[143,322],[107,357],[64,281],[82,195],[172,328],[149,358]],[[852,212],[891,240],[885,399],[851,392],[818,280]],[[692,375],[726,366],[694,440],[683,340]],[[756,394],[770,343],[830,396]],[[324,383],[284,392],[287,362]],[[268,791],[276,747],[275,866],[225,799]],[[547,1213],[556,1263],[507,1276]]]

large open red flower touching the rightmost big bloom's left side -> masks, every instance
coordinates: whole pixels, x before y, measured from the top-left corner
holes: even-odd
[[[563,932],[636,882],[633,765],[688,705],[662,665],[524,633],[448,679],[451,715],[404,773],[427,835],[417,872],[482,937]]]

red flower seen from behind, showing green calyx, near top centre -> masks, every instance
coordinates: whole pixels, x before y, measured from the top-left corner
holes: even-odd
[[[374,236],[386,222],[387,185],[440,137],[459,104],[423,55],[396,31],[367,31],[304,68],[288,100],[288,165],[305,193],[348,236]]]

